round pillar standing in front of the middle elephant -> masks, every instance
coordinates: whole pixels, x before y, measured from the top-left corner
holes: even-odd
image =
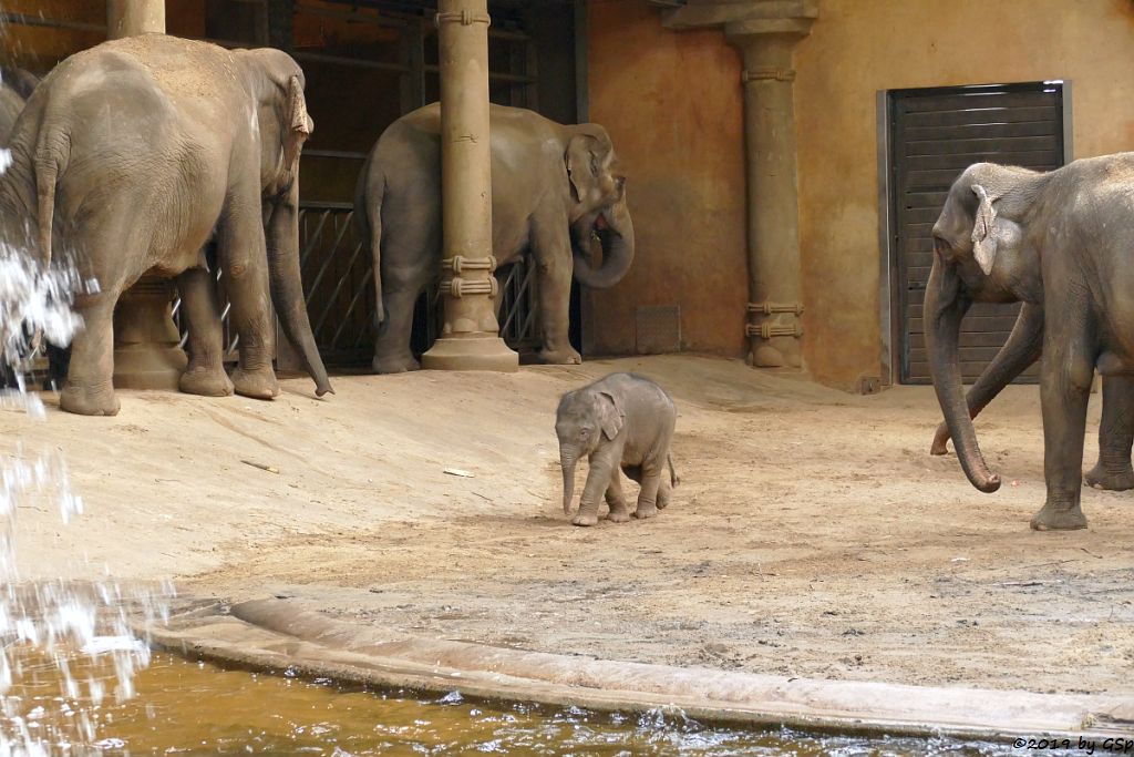
[[[519,356],[500,338],[493,306],[488,3],[439,7],[445,326],[422,368],[514,371]]]

